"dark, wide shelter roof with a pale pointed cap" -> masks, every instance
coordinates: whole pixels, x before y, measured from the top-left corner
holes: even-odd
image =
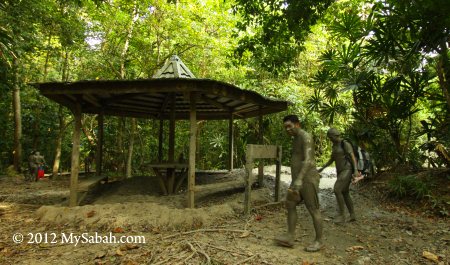
[[[81,105],[83,113],[110,116],[189,119],[195,97],[197,119],[249,118],[287,109],[288,102],[274,100],[221,81],[195,78],[178,57],[166,63],[157,78],[89,80],[34,84],[42,95],[68,108]],[[174,101],[173,101],[174,100]]]

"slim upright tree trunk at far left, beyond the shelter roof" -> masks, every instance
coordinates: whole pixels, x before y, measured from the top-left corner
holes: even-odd
[[[20,107],[19,86],[19,62],[14,59],[14,88],[13,88],[13,111],[14,111],[14,169],[21,171],[22,163],[22,114]]]

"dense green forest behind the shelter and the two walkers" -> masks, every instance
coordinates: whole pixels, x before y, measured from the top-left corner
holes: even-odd
[[[283,146],[283,164],[290,140],[282,118],[293,113],[313,134],[319,165],[333,126],[379,169],[448,167],[448,14],[447,0],[4,0],[0,170],[26,170],[32,150],[54,174],[70,168],[73,117],[30,84],[151,78],[173,54],[198,78],[291,102],[263,121],[264,142]],[[241,167],[259,125],[234,123]],[[227,121],[198,125],[197,167],[225,168]],[[106,171],[142,174],[158,159],[158,128],[106,117]],[[95,115],[83,115],[82,130],[84,161],[95,150]],[[188,136],[188,123],[177,122],[176,156],[187,153]]]

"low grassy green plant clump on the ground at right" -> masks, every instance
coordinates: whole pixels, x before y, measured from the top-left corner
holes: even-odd
[[[414,175],[397,176],[389,182],[388,189],[396,198],[413,197],[420,200],[430,195],[429,181],[418,179]]]

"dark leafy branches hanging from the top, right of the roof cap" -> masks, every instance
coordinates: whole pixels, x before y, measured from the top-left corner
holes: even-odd
[[[234,10],[242,17],[235,56],[277,75],[289,73],[304,49],[303,43],[331,0],[237,0]]]

